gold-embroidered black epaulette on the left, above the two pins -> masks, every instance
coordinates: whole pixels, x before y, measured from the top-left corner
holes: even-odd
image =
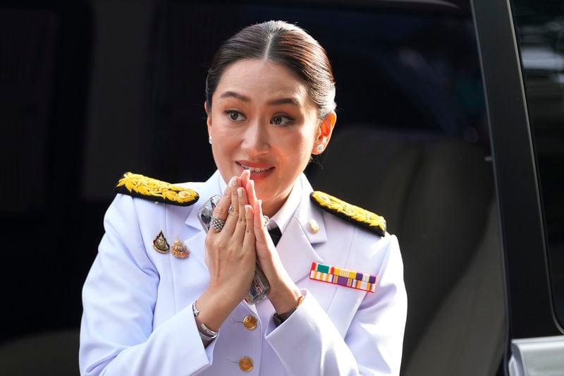
[[[200,196],[190,188],[175,186],[166,181],[148,178],[140,174],[126,172],[119,179],[116,192],[145,200],[164,202],[165,204],[190,206]]]

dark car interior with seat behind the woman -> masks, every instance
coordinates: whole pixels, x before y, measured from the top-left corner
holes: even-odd
[[[0,373],[78,372],[80,290],[124,171],[202,181],[221,41],[274,18],[326,48],[338,121],[312,186],[383,215],[405,265],[403,375],[496,375],[505,344],[484,90],[464,3],[0,6]],[[9,286],[9,287],[8,287]],[[30,354],[32,354],[30,359]],[[6,371],[6,372],[4,372]]]

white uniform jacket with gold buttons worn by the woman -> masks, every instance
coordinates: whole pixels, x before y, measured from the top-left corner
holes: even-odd
[[[407,313],[398,241],[316,207],[303,174],[298,209],[276,248],[304,300],[279,327],[267,298],[243,301],[204,348],[192,314],[209,282],[197,211],[221,195],[220,180],[216,171],[205,183],[186,183],[200,194],[189,207],[116,196],[82,291],[81,374],[398,375]],[[319,224],[315,233],[311,219]],[[175,236],[184,241],[190,257],[154,250],[159,231],[170,245]],[[376,274],[376,292],[309,279],[314,261]],[[257,319],[255,329],[243,325],[247,316]],[[247,372],[240,370],[243,357],[252,362]]]

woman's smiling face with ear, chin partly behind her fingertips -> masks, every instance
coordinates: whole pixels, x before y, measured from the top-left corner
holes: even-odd
[[[225,181],[250,169],[263,211],[283,205],[335,122],[319,121],[307,86],[280,63],[245,59],[223,72],[207,111],[212,152]],[[328,125],[330,126],[328,128]]]

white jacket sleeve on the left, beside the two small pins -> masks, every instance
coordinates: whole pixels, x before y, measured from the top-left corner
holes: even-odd
[[[153,329],[159,273],[140,233],[135,202],[117,195],[82,289],[81,375],[192,375],[212,363],[188,306]]]

